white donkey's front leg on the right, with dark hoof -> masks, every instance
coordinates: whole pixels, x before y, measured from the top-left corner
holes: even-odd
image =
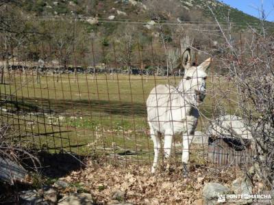
[[[182,163],[183,163],[183,176],[188,176],[188,161],[189,161],[189,150],[192,142],[193,135],[184,133],[182,143]]]

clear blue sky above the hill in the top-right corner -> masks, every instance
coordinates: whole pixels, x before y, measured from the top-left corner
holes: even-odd
[[[258,8],[263,8],[267,15],[266,20],[274,21],[274,0],[220,0],[242,12],[258,17]]]

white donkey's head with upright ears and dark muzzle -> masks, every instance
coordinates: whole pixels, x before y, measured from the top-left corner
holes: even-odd
[[[211,64],[211,57],[203,61],[199,66],[191,64],[190,49],[186,49],[182,55],[182,66],[185,69],[184,77],[179,83],[179,89],[184,97],[194,106],[199,106],[206,97],[206,74]]]

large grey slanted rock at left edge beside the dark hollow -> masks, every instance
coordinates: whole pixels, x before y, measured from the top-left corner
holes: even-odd
[[[0,156],[0,180],[13,184],[25,181],[27,170],[15,161]]]

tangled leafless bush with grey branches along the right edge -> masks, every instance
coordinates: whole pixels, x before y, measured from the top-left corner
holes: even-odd
[[[247,38],[241,36],[240,43],[230,26],[224,31],[219,25],[225,40],[220,66],[229,70],[228,77],[237,92],[236,98],[229,100],[236,103],[236,114],[245,122],[256,147],[247,176],[251,180],[258,176],[265,184],[264,191],[274,190],[274,42],[265,25],[262,18],[258,27],[249,27]],[[226,111],[224,107],[219,109]]]

